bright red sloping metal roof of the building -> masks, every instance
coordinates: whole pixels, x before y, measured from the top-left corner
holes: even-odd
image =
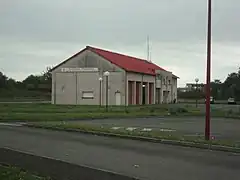
[[[159,67],[156,64],[153,64],[147,60],[119,54],[116,52],[111,52],[95,47],[87,46],[87,49],[95,52],[96,54],[100,55],[104,59],[110,61],[111,63],[123,68],[126,71],[130,72],[137,72],[137,73],[144,73],[155,75],[155,70],[163,70],[165,69]]]

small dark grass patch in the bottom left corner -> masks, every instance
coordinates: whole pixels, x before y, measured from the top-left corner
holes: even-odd
[[[50,178],[38,177],[35,174],[16,167],[0,165],[1,180],[50,180]]]

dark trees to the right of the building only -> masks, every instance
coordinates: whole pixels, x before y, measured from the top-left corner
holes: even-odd
[[[240,68],[238,72],[228,74],[224,82],[215,79],[211,82],[211,96],[216,100],[227,100],[230,97],[240,101]],[[193,89],[189,92],[178,92],[179,98],[184,99],[202,99],[205,97],[204,91]]]

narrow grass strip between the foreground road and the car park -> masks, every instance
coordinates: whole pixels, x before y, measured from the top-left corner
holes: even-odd
[[[134,129],[127,130],[126,128],[113,129],[111,126],[97,126],[97,125],[86,125],[86,124],[74,124],[67,122],[41,122],[41,123],[31,123],[30,126],[46,129],[56,129],[56,130],[71,130],[79,131],[82,133],[91,133],[99,135],[114,135],[123,138],[134,137],[133,139],[139,140],[156,140],[159,141],[175,141],[178,143],[195,143],[195,144],[205,144],[205,145],[221,145],[232,148],[240,148],[239,142],[231,140],[210,140],[205,141],[203,136],[189,136],[183,132],[176,131],[160,131],[147,129]]]

